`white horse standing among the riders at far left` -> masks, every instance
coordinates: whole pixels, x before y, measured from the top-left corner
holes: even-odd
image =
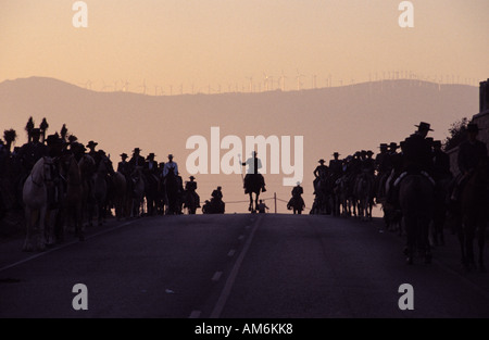
[[[43,251],[46,244],[54,242],[54,230],[48,222],[48,186],[53,186],[51,166],[51,158],[40,159],[34,165],[30,175],[24,182],[22,191],[26,219],[24,251]],[[35,226],[37,223],[39,227],[36,235]],[[45,230],[46,226],[48,226],[47,230]],[[34,239],[34,244],[33,235],[37,236],[37,239]]]

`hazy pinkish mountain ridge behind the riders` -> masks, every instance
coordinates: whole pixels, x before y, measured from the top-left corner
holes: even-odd
[[[66,123],[68,131],[83,142],[98,141],[113,160],[135,147],[145,155],[154,152],[158,161],[173,153],[184,177],[192,151],[186,149],[186,140],[193,135],[210,137],[212,126],[221,128],[221,138],[304,136],[304,190],[311,194],[312,172],[321,158],[329,160],[335,151],[346,156],[361,149],[377,153],[380,142],[399,142],[422,121],[431,124],[432,137],[444,139],[453,122],[477,113],[478,92],[473,86],[401,79],[302,91],[155,97],[98,92],[30,77],[0,84],[0,128],[16,129],[18,146],[26,140],[28,117],[39,124],[46,116],[49,134]],[[233,198],[243,199],[239,176],[223,176],[196,177],[205,191],[217,181],[229,182],[233,192],[237,188]],[[285,199],[290,190],[278,187],[281,177],[266,176],[272,192],[276,189]],[[306,204],[311,206],[311,197]]]

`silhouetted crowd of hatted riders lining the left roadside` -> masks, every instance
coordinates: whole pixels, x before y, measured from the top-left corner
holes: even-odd
[[[29,176],[36,162],[45,156],[49,156],[53,160],[53,174],[57,177],[55,182],[59,186],[63,186],[65,178],[61,176],[59,166],[59,160],[63,156],[73,155],[77,162],[82,158],[88,155],[93,160],[91,166],[85,168],[87,177],[91,177],[98,169],[101,162],[108,165],[108,211],[110,211],[110,191],[112,181],[110,176],[115,172],[124,175],[126,179],[127,192],[130,193],[134,190],[134,184],[138,180],[138,176],[143,176],[146,186],[154,186],[155,191],[159,192],[159,200],[154,209],[155,213],[165,213],[165,196],[162,192],[164,189],[165,178],[170,172],[178,181],[178,191],[180,194],[179,213],[184,213],[184,209],[187,206],[187,202],[192,202],[192,212],[198,207],[201,207],[200,197],[197,193],[197,181],[193,176],[190,176],[188,180],[183,180],[178,173],[178,165],[174,161],[173,154],[168,154],[167,162],[156,162],[155,154],[153,152],[148,153],[145,158],[141,155],[141,149],[135,148],[130,156],[127,153],[122,153],[121,161],[116,164],[116,168],[113,167],[110,155],[105,154],[104,150],[98,148],[98,142],[90,140],[87,143],[83,143],[76,136],[67,133],[66,126],[60,130],[60,134],[55,133],[47,136],[47,129],[49,125],[46,118],[42,121],[39,127],[36,127],[33,118],[30,117],[26,125],[27,142],[20,147],[13,147],[15,139],[17,138],[14,130],[5,130],[3,139],[0,139],[0,218],[5,217],[12,212],[22,211],[22,188],[25,179]],[[90,182],[89,187],[92,191],[93,184]],[[61,192],[61,190],[59,190]],[[58,190],[55,191],[58,192]],[[49,200],[51,205],[55,205],[62,200],[55,192],[49,192]],[[92,192],[89,194],[92,196]],[[190,198],[191,200],[187,200]],[[205,201],[202,206],[204,213],[224,213],[224,202],[222,188],[218,187],[211,193],[211,199]],[[190,212],[190,211],[189,211]]]

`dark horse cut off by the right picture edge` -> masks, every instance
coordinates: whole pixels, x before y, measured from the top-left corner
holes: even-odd
[[[477,238],[479,253],[478,265],[480,272],[486,272],[484,264],[485,234],[487,225],[487,206],[489,203],[488,158],[484,158],[461,192],[459,224],[459,241],[462,251],[462,263],[466,269],[475,266],[474,239]]]

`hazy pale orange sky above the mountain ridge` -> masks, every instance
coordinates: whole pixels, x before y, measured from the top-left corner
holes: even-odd
[[[161,93],[286,90],[412,72],[431,80],[489,76],[489,1],[87,0],[75,28],[72,0],[0,0],[0,81],[49,76],[92,89]],[[443,78],[441,78],[443,77]],[[469,80],[471,79],[471,80]],[[115,84],[117,81],[117,84]],[[269,84],[269,83],[268,83]],[[159,86],[159,88],[155,88]]]

